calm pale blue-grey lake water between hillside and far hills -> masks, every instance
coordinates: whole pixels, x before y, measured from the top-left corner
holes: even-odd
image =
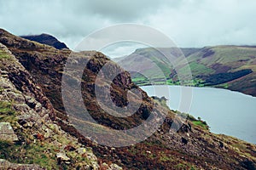
[[[165,96],[172,110],[207,121],[212,133],[223,133],[256,144],[256,98],[220,88],[144,86],[149,96]],[[169,92],[168,92],[169,90]],[[192,95],[189,92],[192,92]],[[181,95],[185,94],[185,95]],[[190,99],[190,97],[192,97]],[[183,102],[180,102],[184,99]],[[186,100],[187,99],[187,100]],[[189,104],[189,111],[182,103]]]

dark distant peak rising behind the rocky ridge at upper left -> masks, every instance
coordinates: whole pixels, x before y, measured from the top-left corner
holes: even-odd
[[[26,38],[26,39],[34,41],[34,42],[44,43],[46,45],[52,46],[57,49],[67,48],[67,45],[65,43],[60,42],[57,38],[55,38],[49,34],[20,36],[20,37]]]

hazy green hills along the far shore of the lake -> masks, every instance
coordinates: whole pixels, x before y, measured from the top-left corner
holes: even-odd
[[[171,53],[177,48],[160,48],[160,51]],[[187,83],[196,87],[212,86],[228,88],[244,94],[256,96],[256,48],[251,46],[216,46],[206,48],[181,48],[185,59],[188,60],[193,81]],[[143,72],[150,72],[147,65],[139,65],[145,59],[152,60],[163,71],[163,77],[154,77],[156,82],[167,84],[179,84],[177,71],[183,74],[186,71],[183,60],[175,56],[172,63],[154,48],[137,49],[133,54],[125,57],[122,65],[138,65]],[[120,60],[120,59],[119,59]],[[133,81],[138,85],[147,85],[149,82],[141,75],[132,75]]]

